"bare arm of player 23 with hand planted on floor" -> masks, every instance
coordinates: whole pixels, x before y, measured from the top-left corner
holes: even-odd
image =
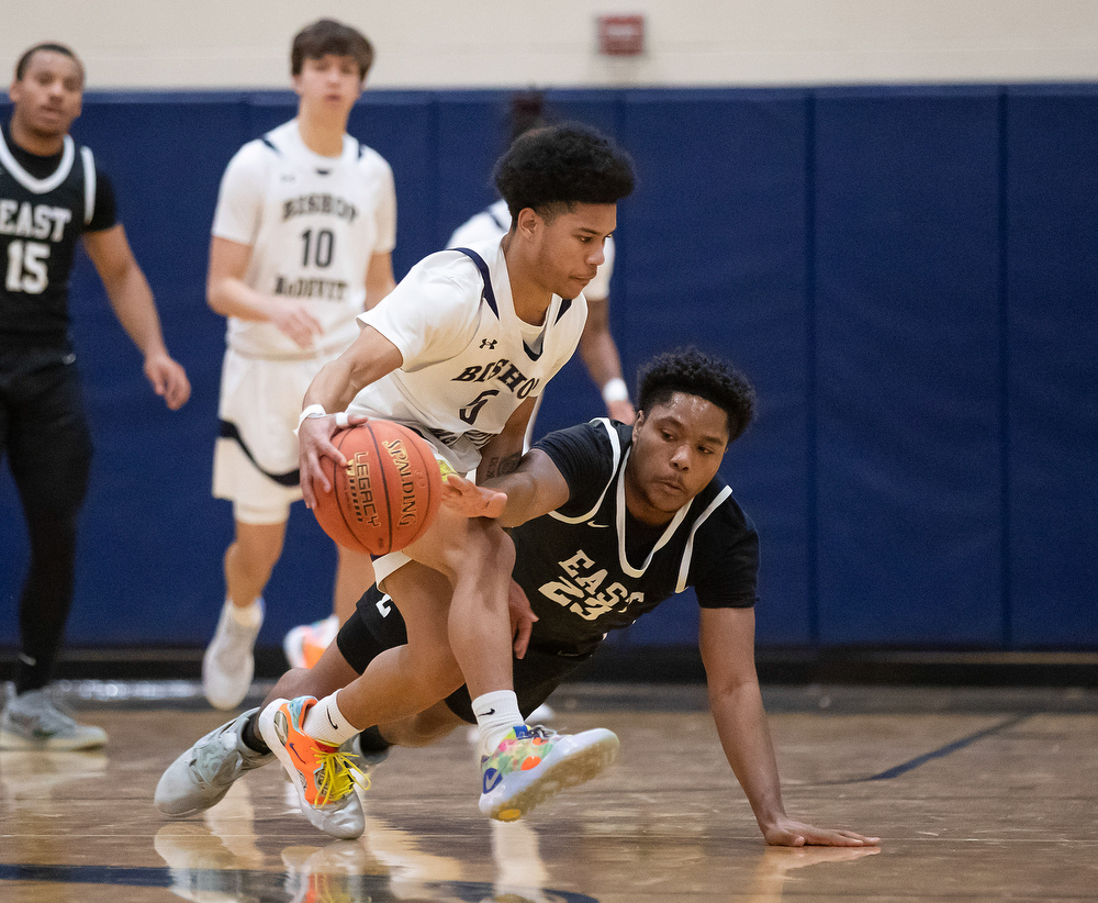
[[[852,830],[817,828],[791,818],[782,802],[777,759],[754,666],[754,610],[702,609],[699,645],[709,707],[728,763],[768,844],[861,847],[879,843]]]

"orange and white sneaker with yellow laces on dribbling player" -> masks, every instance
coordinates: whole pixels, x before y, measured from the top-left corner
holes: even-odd
[[[304,816],[332,837],[355,839],[366,829],[355,792],[358,769],[337,747],[302,731],[305,714],[315,704],[313,696],[274,700],[259,714],[259,733],[290,776]]]

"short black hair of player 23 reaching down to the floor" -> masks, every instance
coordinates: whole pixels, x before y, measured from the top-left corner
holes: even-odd
[[[658,355],[640,369],[637,406],[649,411],[671,401],[675,392],[704,398],[728,416],[728,442],[733,443],[755,416],[755,391],[732,364],[709,357],[693,346]]]

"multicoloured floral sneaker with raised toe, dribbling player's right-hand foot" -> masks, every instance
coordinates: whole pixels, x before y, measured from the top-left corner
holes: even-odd
[[[603,727],[582,734],[512,727],[495,752],[481,759],[480,811],[501,822],[522,818],[553,793],[590,781],[617,751],[617,735]]]

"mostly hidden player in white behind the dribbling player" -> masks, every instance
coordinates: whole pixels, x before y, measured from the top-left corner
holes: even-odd
[[[545,94],[523,93],[512,99],[512,142],[530,129],[539,129],[547,124],[549,120],[546,116]],[[507,202],[501,199],[458,226],[450,236],[447,247],[466,247],[471,242],[500,237],[509,230],[511,212],[507,210]],[[583,290],[583,297],[587,299],[587,322],[580,337],[580,357],[583,358],[591,379],[602,392],[606,413],[614,420],[630,424],[636,417],[636,412],[629,402],[629,389],[621,378],[621,357],[614,336],[610,335],[609,293],[610,277],[614,274],[614,238],[610,236],[603,248],[605,260],[598,266],[595,278]],[[540,405],[540,397],[538,401]],[[530,417],[527,430],[527,448],[533,439],[536,417],[537,409]]]

